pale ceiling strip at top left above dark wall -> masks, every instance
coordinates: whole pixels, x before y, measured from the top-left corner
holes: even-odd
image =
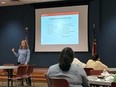
[[[12,6],[12,5],[23,5],[30,3],[39,3],[39,2],[51,2],[51,1],[62,1],[62,0],[0,0],[1,6]]]

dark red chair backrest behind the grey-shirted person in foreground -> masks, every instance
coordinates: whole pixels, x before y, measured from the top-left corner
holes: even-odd
[[[69,83],[65,79],[53,78],[51,83],[52,87],[69,87]]]

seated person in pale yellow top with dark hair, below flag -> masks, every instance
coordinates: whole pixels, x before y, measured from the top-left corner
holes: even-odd
[[[86,63],[86,68],[93,68],[94,70],[109,70],[109,68],[100,61],[99,55],[93,55]]]

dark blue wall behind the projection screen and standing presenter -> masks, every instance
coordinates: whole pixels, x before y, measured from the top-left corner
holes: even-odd
[[[89,52],[78,52],[76,57],[78,57],[82,62],[86,62],[91,57],[91,46],[93,41],[93,34],[95,29],[96,39],[99,41],[98,33],[100,28],[99,22],[99,0],[74,0],[74,1],[63,1],[55,3],[39,3],[32,5],[22,5],[22,6],[11,6],[11,7],[1,7],[0,8],[0,65],[4,63],[14,63],[16,64],[17,58],[12,54],[11,49],[16,50],[19,47],[20,41],[25,38],[28,34],[29,45],[31,49],[31,64],[35,64],[36,67],[49,67],[52,64],[58,62],[59,52],[34,52],[34,37],[35,37],[35,8],[42,7],[54,7],[54,6],[66,6],[66,5],[78,5],[78,4],[89,4]],[[93,24],[96,27],[93,27]],[[28,27],[28,32],[25,28]],[[97,41],[97,43],[98,43]],[[98,51],[98,49],[97,49]],[[101,54],[102,55],[102,54]],[[107,63],[109,64],[109,63]],[[110,64],[109,64],[110,65]]]

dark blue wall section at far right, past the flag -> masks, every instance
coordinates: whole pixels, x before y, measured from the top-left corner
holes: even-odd
[[[116,67],[116,1],[101,0],[99,52],[101,60]]]

